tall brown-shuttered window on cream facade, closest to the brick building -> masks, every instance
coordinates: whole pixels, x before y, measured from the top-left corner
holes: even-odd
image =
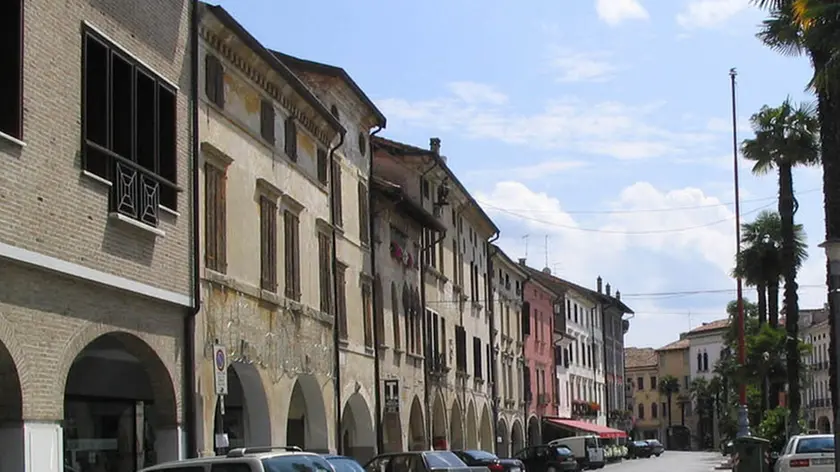
[[[225,173],[204,165],[204,263],[208,269],[227,271],[227,224],[225,209]]]

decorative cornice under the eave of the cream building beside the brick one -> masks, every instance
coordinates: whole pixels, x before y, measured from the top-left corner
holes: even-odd
[[[207,42],[213,49],[216,50],[228,62],[236,66],[240,72],[245,74],[254,84],[258,85],[265,93],[276,100],[283,108],[289,111],[289,114],[295,118],[295,121],[303,125],[303,127],[312,133],[315,137],[321,140],[324,144],[329,144],[332,141],[327,132],[315,120],[303,112],[298,106],[294,104],[294,99],[284,94],[284,87],[279,83],[272,81],[268,76],[260,71],[258,67],[252,64],[252,61],[243,57],[225,41],[216,31],[212,31],[207,25],[199,26],[199,34],[204,41]],[[232,35],[232,33],[231,33]],[[244,47],[244,46],[243,46]]]

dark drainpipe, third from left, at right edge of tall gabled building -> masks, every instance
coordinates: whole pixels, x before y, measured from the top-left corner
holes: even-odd
[[[373,142],[373,137],[376,136],[377,133],[382,131],[382,126],[377,126],[372,133],[370,133],[370,139],[368,139],[369,143]],[[373,149],[370,149],[371,145],[368,145],[368,176],[373,177]],[[368,240],[370,243],[370,275],[373,277],[373,280],[376,281],[376,235],[374,231],[374,224],[373,224],[373,198],[371,195],[373,192],[371,191],[371,178],[368,178],[368,214],[371,215],[368,218]],[[374,290],[376,290],[376,284],[373,284]],[[383,297],[382,294],[382,284],[379,284],[379,295]],[[379,326],[384,326],[385,320],[380,320],[379,318],[379,310],[382,308],[379,306],[379,302],[377,300],[376,293],[371,293],[373,299],[371,300],[371,309],[373,310],[373,383],[376,385],[376,388],[373,389],[373,403],[376,413],[374,413],[374,421],[375,421],[375,431],[376,431],[376,453],[381,454],[382,451],[385,449],[385,437],[382,431],[382,379],[381,379],[381,372],[379,368],[379,344],[382,342],[379,339]],[[384,333],[383,333],[384,334]]]

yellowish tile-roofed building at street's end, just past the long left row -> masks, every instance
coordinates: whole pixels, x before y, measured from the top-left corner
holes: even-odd
[[[662,429],[657,390],[659,354],[652,348],[625,348],[624,369],[628,393],[632,395],[628,398],[628,409],[633,413],[633,437],[659,439]]]

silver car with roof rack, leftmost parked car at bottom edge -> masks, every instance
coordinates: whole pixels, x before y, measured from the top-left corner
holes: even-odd
[[[196,469],[247,470],[250,472],[334,472],[320,454],[304,452],[295,446],[239,447],[222,457],[199,457],[164,462],[140,472],[193,472]]]

